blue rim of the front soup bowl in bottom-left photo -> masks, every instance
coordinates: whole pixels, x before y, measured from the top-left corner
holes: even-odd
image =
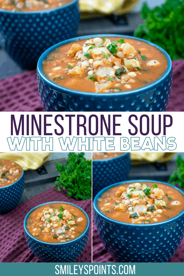
[[[29,214],[32,213],[36,208],[38,208],[38,207],[40,207],[40,206],[43,206],[43,205],[46,205],[46,204],[52,204],[52,203],[67,203],[67,204],[73,205],[73,206],[75,206],[75,207],[81,209],[81,211],[86,215],[86,218],[87,218],[86,229],[84,230],[84,232],[83,232],[79,237],[77,237],[77,238],[74,239],[74,240],[67,241],[67,242],[65,242],[65,243],[46,243],[46,242],[43,242],[43,241],[41,241],[41,240],[37,240],[36,238],[34,238],[34,237],[28,232],[27,227],[26,227],[26,221],[27,221],[27,218],[28,218]],[[88,215],[86,214],[86,212],[85,212],[81,207],[79,207],[79,206],[77,206],[77,205],[75,205],[75,204],[73,204],[73,203],[66,202],[66,201],[50,201],[50,202],[46,202],[46,203],[40,204],[40,205],[34,207],[33,209],[31,209],[31,210],[29,211],[29,213],[27,213],[27,215],[25,216],[25,219],[24,219],[24,231],[26,232],[26,234],[27,234],[30,238],[32,238],[33,240],[35,240],[35,241],[37,241],[37,242],[40,242],[40,243],[45,244],[45,245],[48,245],[48,244],[49,244],[49,245],[51,245],[51,246],[52,246],[52,245],[56,245],[56,246],[57,246],[58,244],[61,246],[61,244],[66,244],[66,243],[68,244],[68,243],[72,243],[72,242],[74,242],[74,241],[76,241],[76,240],[79,240],[82,236],[84,236],[84,235],[86,234],[86,232],[88,231],[89,225],[90,225],[90,221],[89,221],[89,217],[88,217]]]

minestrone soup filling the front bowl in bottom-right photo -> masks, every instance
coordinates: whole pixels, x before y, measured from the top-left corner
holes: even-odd
[[[132,182],[114,186],[98,198],[105,216],[126,223],[165,221],[183,211],[184,197],[174,187],[157,182]]]

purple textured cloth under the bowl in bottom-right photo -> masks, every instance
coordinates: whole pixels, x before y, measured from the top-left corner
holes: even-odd
[[[98,236],[93,217],[93,263],[115,263]],[[184,263],[184,239],[168,263]]]

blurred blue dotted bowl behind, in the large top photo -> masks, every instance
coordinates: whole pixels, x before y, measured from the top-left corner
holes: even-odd
[[[35,69],[52,45],[77,35],[78,0],[50,10],[12,12],[0,9],[2,48],[23,69]]]

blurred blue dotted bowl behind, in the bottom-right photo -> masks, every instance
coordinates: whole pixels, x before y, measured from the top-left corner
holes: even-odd
[[[129,152],[113,158],[93,160],[93,199],[100,190],[108,185],[128,180],[130,167]]]

